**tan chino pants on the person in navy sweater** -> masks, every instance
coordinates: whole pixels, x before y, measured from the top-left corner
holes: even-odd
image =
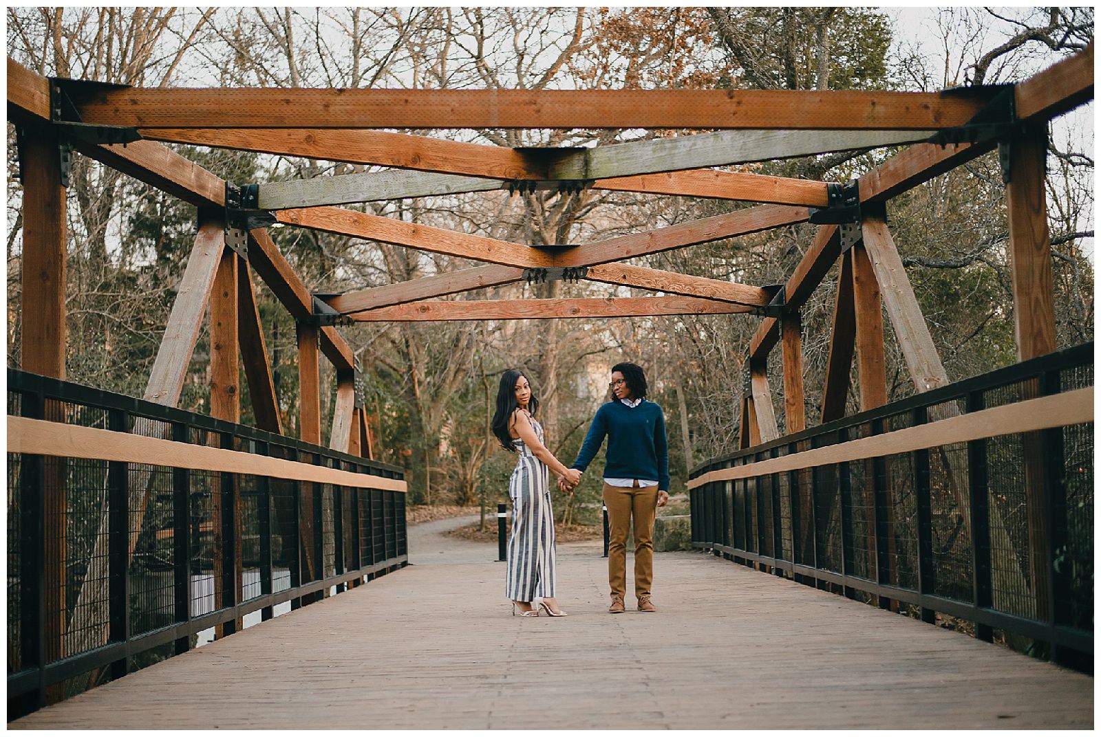
[[[654,515],[657,485],[634,487],[604,484],[608,507],[608,583],[613,596],[626,595],[626,535],[634,517],[634,595],[650,593],[654,580]]]

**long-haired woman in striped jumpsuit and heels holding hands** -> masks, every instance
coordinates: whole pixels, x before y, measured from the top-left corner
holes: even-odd
[[[505,596],[524,616],[537,616],[532,606],[553,617],[565,616],[555,600],[554,512],[550,507],[548,470],[567,482],[580,476],[567,469],[543,444],[543,427],[535,420],[538,400],[523,372],[510,370],[501,376],[493,432],[501,446],[516,453],[516,468],[509,480],[512,532],[509,535]]]

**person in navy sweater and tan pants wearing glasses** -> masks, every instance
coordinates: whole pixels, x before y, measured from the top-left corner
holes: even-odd
[[[571,468],[585,472],[608,437],[604,506],[608,507],[608,583],[611,614],[623,612],[626,595],[626,535],[634,518],[634,594],[640,612],[656,612],[651,601],[654,578],[654,515],[669,501],[669,454],[662,407],[646,402],[646,376],[633,363],[612,366],[613,399],[592,418]],[[565,481],[559,482],[565,484]]]

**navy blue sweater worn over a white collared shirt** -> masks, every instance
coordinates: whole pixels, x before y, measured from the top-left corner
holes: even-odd
[[[628,407],[619,399],[601,405],[592,418],[573,468],[589,468],[608,436],[604,479],[656,479],[657,487],[669,488],[669,451],[665,441],[662,407],[645,399]]]

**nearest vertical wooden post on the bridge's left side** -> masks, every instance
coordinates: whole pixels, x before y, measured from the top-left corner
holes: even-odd
[[[62,146],[47,130],[20,135],[23,172],[22,367],[65,378],[65,186]],[[45,402],[44,419],[62,421],[57,403]],[[66,503],[63,459],[45,459],[42,476],[47,662],[64,657]],[[55,690],[51,690],[52,692]]]

